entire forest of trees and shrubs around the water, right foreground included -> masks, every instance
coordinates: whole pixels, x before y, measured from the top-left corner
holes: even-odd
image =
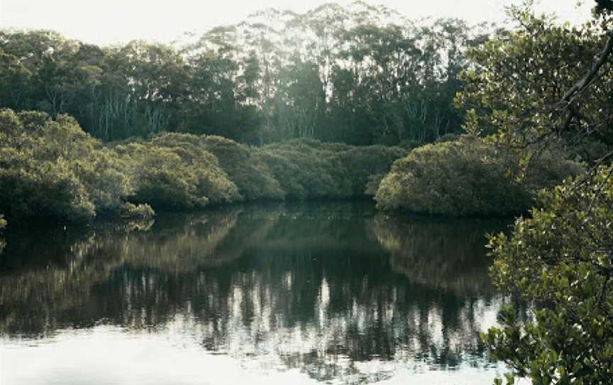
[[[175,45],[0,31],[0,232],[314,199],[518,216],[491,274],[534,311],[509,301],[492,359],[508,384],[608,384],[613,4],[581,26],[531,5],[508,28],[269,9]]]

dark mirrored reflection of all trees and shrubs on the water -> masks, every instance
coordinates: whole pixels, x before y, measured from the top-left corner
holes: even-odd
[[[485,365],[477,335],[499,298],[482,244],[495,229],[338,203],[175,215],[147,232],[20,236],[0,262],[0,330],[181,327],[211,352],[321,381],[385,377],[360,369],[373,359]]]

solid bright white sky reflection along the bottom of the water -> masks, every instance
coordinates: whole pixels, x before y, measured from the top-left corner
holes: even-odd
[[[319,384],[299,369],[287,369],[278,357],[262,362],[246,354],[212,354],[201,349],[194,337],[176,321],[159,334],[135,335],[100,326],[60,332],[53,341],[31,342],[27,347],[4,340],[0,384]],[[331,384],[491,384],[502,372],[502,367],[468,365],[446,372],[419,361],[377,360],[355,364],[355,369],[359,374]]]

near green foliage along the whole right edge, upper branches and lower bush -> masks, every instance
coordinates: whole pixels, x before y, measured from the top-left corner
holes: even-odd
[[[528,5],[530,2],[526,2]],[[490,237],[499,288],[531,308],[509,306],[500,327],[483,335],[492,357],[533,384],[609,384],[613,377],[613,76],[610,1],[580,27],[510,9],[517,31],[468,53],[458,104],[469,109],[473,134],[525,150],[519,166],[534,166],[543,148],[580,158],[590,171],[543,191],[512,234]],[[603,28],[604,27],[604,28]],[[602,28],[602,29],[600,29]],[[608,32],[607,32],[608,31]],[[546,151],[546,150],[544,150]],[[502,381],[497,379],[497,384]]]

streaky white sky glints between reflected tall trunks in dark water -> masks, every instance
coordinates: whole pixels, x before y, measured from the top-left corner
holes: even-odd
[[[291,276],[291,273],[287,273],[285,281],[291,282]],[[343,313],[342,310],[330,308],[330,287],[323,278],[315,303],[316,319],[294,325],[286,319],[287,315],[291,315],[292,308],[278,304],[289,293],[279,293],[258,280],[252,283],[251,289],[250,298],[245,298],[243,286],[235,284],[227,298],[228,314],[220,317],[225,326],[221,333],[216,327],[220,318],[197,320],[195,315],[186,315],[183,320],[191,324],[190,330],[198,330],[197,334],[204,336],[205,340],[215,340],[216,351],[237,357],[316,354],[318,359],[325,361],[334,357],[331,352],[335,348],[349,348],[345,345],[351,343],[347,338],[353,331],[366,335],[372,333],[373,328],[382,327],[385,330],[385,333],[381,333],[382,337],[391,339],[390,345],[395,347],[394,361],[424,356],[432,349],[438,352],[449,349],[460,358],[471,361],[470,357],[463,356],[477,350],[475,332],[495,325],[500,306],[500,298],[466,300],[458,310],[458,324],[455,327],[443,325],[443,309],[436,303],[430,303],[427,309],[424,309],[424,305],[411,305],[403,309],[395,306],[394,302],[377,303],[377,298],[365,303],[358,303],[354,298],[353,305]],[[287,290],[291,290],[291,284],[288,284]],[[245,318],[245,308],[252,310],[248,318]],[[404,342],[407,336],[411,336],[408,343]],[[484,365],[485,362],[475,360],[473,364]]]

